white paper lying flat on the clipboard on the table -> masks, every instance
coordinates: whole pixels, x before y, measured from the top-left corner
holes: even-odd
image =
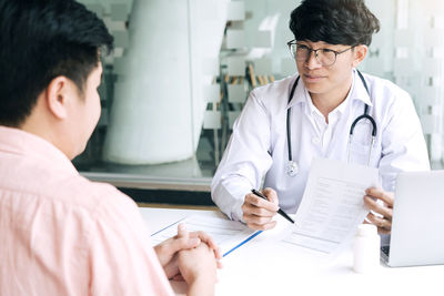
[[[178,224],[184,223],[189,232],[202,231],[211,235],[221,253],[225,256],[232,248],[253,236],[256,231],[250,229],[244,224],[219,217],[193,215],[178,221],[173,225],[154,233],[151,236],[153,245],[157,245],[178,234]]]

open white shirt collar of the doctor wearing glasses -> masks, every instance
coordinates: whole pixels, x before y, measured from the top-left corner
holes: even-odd
[[[297,79],[297,76],[295,76],[293,83],[295,83],[296,79]],[[291,92],[291,89],[293,88],[293,83],[290,83],[289,94]],[[361,79],[357,74],[357,70],[353,69],[352,88],[347,94],[347,98],[335,110],[343,113],[347,105],[347,101],[355,101],[355,100],[362,101],[364,104],[367,104],[369,106],[373,106],[370,95],[369,95],[367,91],[365,90],[364,83],[361,81]],[[311,100],[311,96],[309,94],[309,91],[306,90],[306,88],[304,85],[304,82],[300,79],[297,82],[296,89],[294,91],[294,95],[291,99],[290,103],[286,105],[286,109],[292,108],[293,105],[296,105],[296,104],[302,104],[302,103],[306,103],[307,108],[311,112],[313,111],[313,109],[315,109],[315,106],[313,105],[313,102]]]

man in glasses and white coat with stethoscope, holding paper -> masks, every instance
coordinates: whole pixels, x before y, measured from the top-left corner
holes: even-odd
[[[296,212],[313,157],[349,161],[379,167],[382,188],[369,188],[363,198],[381,214],[367,221],[389,234],[396,174],[430,164],[408,93],[356,70],[380,22],[363,0],[304,0],[291,13],[290,29],[299,75],[251,92],[214,175],[212,198],[232,220],[269,229],[278,206]],[[269,201],[251,194],[262,184]]]

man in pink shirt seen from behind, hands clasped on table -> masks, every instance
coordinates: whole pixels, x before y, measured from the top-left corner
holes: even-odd
[[[203,233],[151,247],[131,198],[71,164],[100,116],[103,22],[73,0],[0,0],[0,295],[212,295]]]

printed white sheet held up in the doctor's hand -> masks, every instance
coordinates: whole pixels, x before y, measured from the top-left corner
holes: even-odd
[[[295,226],[283,241],[325,254],[339,252],[369,213],[365,190],[377,183],[377,169],[313,160]]]

